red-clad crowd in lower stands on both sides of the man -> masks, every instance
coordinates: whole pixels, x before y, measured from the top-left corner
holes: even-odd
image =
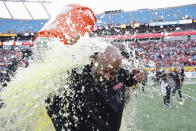
[[[154,62],[156,66],[196,66],[196,40],[170,40],[170,41],[147,41],[132,44],[141,52],[141,58],[146,66]],[[15,56],[17,46],[0,46],[0,71],[6,70]],[[28,61],[27,46],[20,47],[23,52],[24,62]],[[26,57],[27,56],[27,57]]]

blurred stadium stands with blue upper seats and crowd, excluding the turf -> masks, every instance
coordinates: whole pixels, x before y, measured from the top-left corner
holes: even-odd
[[[51,3],[45,1],[0,1],[0,65],[6,67],[13,45],[29,48],[33,38],[51,18]],[[37,13],[39,12],[39,13]],[[196,4],[135,11],[105,11],[92,37],[101,37],[119,48],[126,42],[141,53],[148,72],[154,66],[185,66],[196,77]]]

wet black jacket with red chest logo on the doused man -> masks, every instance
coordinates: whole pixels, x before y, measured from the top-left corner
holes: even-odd
[[[71,76],[71,92],[64,91],[63,95],[46,100],[48,115],[56,130],[118,131],[125,87],[134,83],[132,75],[120,69],[113,80],[102,86],[95,84],[90,66],[86,66],[81,74],[73,71]]]

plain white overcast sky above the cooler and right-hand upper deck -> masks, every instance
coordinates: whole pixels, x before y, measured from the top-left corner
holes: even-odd
[[[51,0],[61,7],[69,3],[78,3],[90,7],[96,14],[109,10],[132,11],[196,4],[196,0]]]

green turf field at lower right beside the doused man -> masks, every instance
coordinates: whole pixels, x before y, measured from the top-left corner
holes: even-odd
[[[184,85],[182,93],[196,97],[196,84]],[[131,97],[123,121],[130,131],[195,131],[196,100],[187,97],[180,105],[171,97],[171,107],[166,107],[160,86],[148,85],[144,93]]]

